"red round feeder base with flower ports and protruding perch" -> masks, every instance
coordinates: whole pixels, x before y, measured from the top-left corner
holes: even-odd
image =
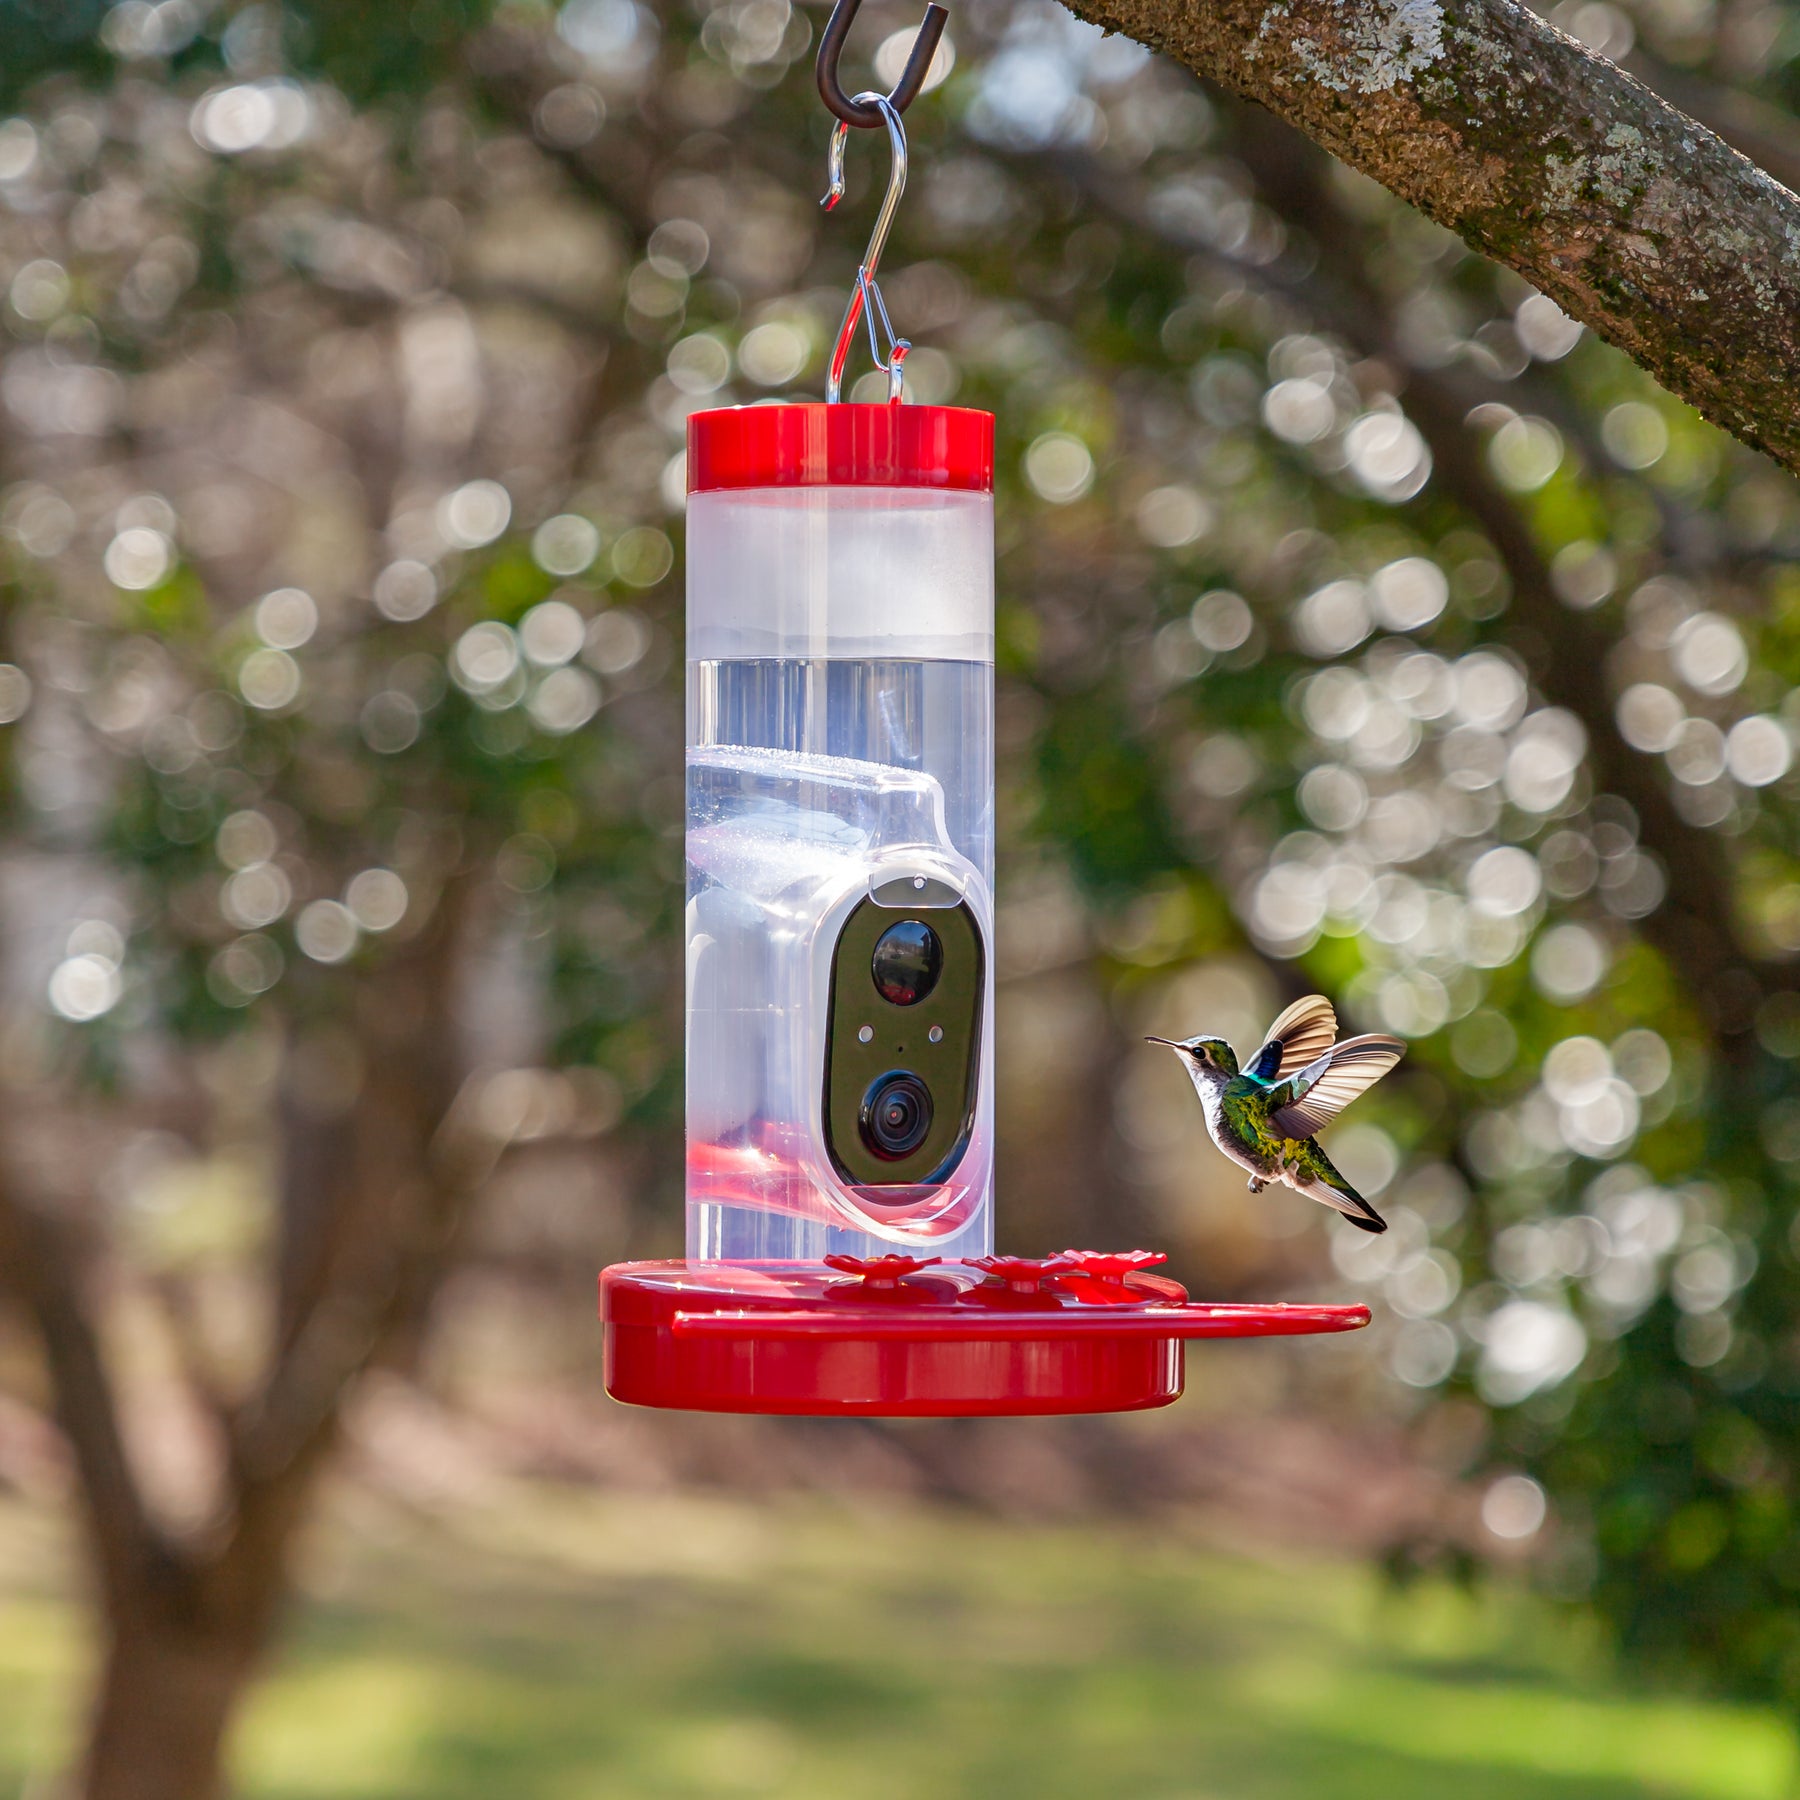
[[[1368,1325],[1368,1307],[1192,1305],[1156,1262],[623,1262],[599,1278],[607,1391],[704,1413],[1125,1413],[1181,1397],[1190,1337]]]

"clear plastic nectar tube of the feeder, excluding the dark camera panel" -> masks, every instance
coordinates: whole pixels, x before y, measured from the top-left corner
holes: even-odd
[[[689,1256],[992,1247],[992,718],[988,495],[689,499]],[[832,949],[914,875],[990,947],[976,1129],[943,1183],[857,1190],[821,1120]]]

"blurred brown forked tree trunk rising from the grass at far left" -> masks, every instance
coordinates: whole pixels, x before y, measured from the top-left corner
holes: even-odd
[[[225,1737],[279,1622],[293,1532],[344,1400],[371,1363],[410,1341],[463,1201],[491,1163],[455,1111],[468,898],[464,880],[450,880],[423,929],[364,976],[362,1080],[340,1129],[284,1121],[288,1219],[272,1247],[274,1343],[254,1393],[230,1400],[182,1336],[193,1395],[225,1444],[212,1525],[166,1526],[131,1467],[86,1294],[97,1258],[70,1219],[81,1208],[32,1192],[18,1168],[0,1183],[0,1282],[36,1325],[99,1570],[106,1651],[81,1800],[223,1791]],[[14,1111],[29,1105],[14,1096]]]

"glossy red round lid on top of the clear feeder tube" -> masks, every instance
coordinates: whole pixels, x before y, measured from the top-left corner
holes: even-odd
[[[994,491],[994,414],[968,407],[776,405],[688,416],[688,491]]]

